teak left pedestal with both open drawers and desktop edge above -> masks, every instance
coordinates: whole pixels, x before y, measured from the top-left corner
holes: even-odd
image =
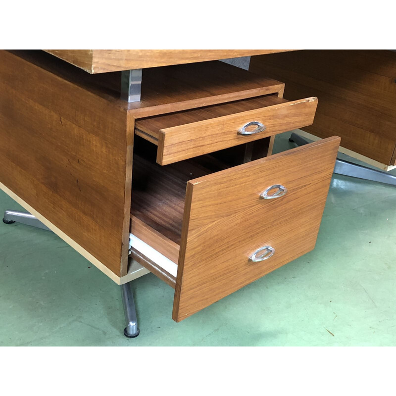
[[[149,270],[173,319],[192,315],[314,248],[339,138],[271,156],[315,97],[218,61],[145,67],[265,52],[55,52],[89,74],[1,51],[0,187],[117,284]],[[116,70],[133,67],[128,103]]]

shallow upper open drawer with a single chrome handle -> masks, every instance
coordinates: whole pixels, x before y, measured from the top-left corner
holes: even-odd
[[[158,146],[166,165],[311,125],[317,98],[267,95],[136,120],[135,133]]]

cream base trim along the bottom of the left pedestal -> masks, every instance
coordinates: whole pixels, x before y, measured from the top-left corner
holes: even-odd
[[[111,280],[113,280],[117,285],[122,285],[123,283],[129,282],[133,279],[139,278],[140,276],[146,275],[149,271],[144,267],[138,267],[136,264],[130,266],[128,269],[128,274],[122,278],[110,271],[104,264],[102,264],[97,258],[95,258],[90,252],[88,252],[84,247],[81,247],[77,242],[73,241],[68,235],[66,235],[62,230],[53,225],[49,220],[47,220],[42,214],[40,214],[36,209],[30,206],[22,198],[18,197],[13,193],[8,187],[4,186],[0,182],[0,189],[11,197],[14,201],[19,203],[24,209],[29,213],[33,214],[38,218],[43,224],[45,224],[54,234],[56,234],[60,239],[65,241],[69,246],[73,247],[78,253],[80,253],[84,258],[86,258],[90,263],[95,265],[103,274],[107,275]]]

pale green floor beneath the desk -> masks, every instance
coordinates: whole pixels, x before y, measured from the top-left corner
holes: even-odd
[[[173,289],[139,278],[132,340],[113,281],[56,235],[0,222],[0,346],[395,346],[395,209],[396,187],[334,175],[312,252],[181,323]]]

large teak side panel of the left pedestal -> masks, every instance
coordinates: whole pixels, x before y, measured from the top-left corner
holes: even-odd
[[[7,51],[0,93],[1,182],[115,276],[126,274],[133,118]]]

